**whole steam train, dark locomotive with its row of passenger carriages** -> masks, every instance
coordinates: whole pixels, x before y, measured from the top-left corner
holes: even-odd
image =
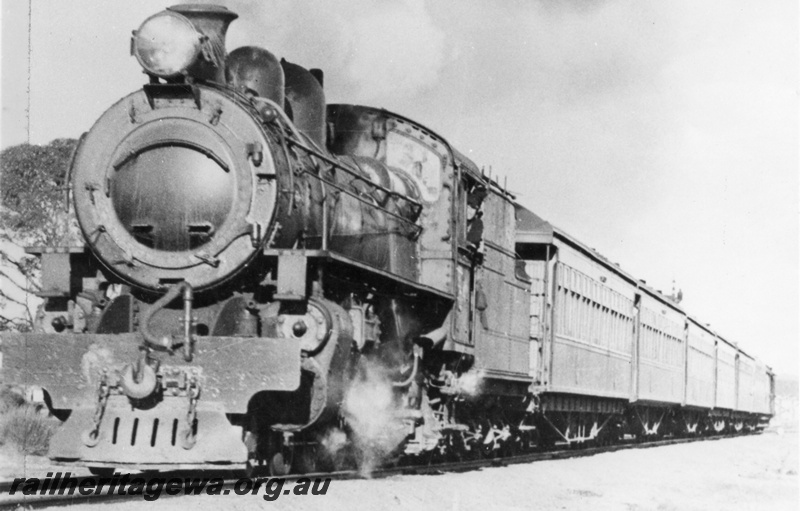
[[[52,459],[308,470],[331,431],[358,444],[359,382],[389,389],[393,455],[766,424],[769,368],[433,131],[226,53],[236,17],[178,5],[134,32],[149,83],[70,169],[85,246],[30,250],[46,301],[3,369],[64,420]]]

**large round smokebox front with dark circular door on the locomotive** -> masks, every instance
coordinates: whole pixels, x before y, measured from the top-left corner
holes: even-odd
[[[201,84],[149,84],[109,108],[72,167],[75,210],[97,258],[151,291],[181,280],[203,290],[239,274],[285,207],[285,162],[273,159],[257,115]]]

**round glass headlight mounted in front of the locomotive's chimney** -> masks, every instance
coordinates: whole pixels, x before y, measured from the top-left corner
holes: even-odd
[[[133,53],[148,73],[167,78],[189,68],[200,53],[202,36],[185,16],[163,11],[133,33]]]

